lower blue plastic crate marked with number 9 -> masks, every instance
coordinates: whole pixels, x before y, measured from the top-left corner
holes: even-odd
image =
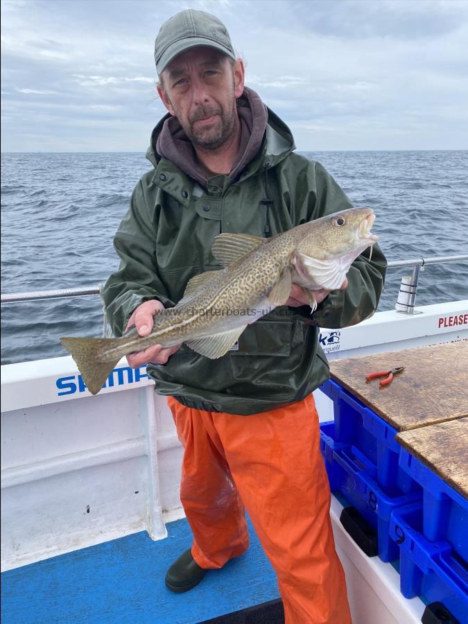
[[[423,503],[392,511],[390,537],[400,551],[400,589],[405,598],[422,596],[442,603],[461,623],[468,622],[468,568],[448,541],[422,535]]]

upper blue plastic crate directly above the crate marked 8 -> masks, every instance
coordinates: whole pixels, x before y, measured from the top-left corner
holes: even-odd
[[[333,440],[351,444],[372,462],[377,483],[390,496],[421,492],[415,480],[399,467],[397,429],[336,381],[329,379],[320,390],[333,401],[335,427],[329,433]]]

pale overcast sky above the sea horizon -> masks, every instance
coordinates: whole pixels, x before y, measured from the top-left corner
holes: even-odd
[[[299,150],[468,148],[468,0],[1,0],[1,150],[144,152],[183,8],[225,23]]]

